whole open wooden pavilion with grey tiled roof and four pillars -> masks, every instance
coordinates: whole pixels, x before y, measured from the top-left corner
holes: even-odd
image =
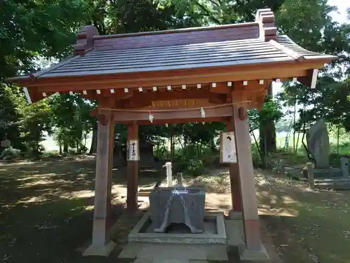
[[[92,246],[108,255],[114,123],[127,125],[127,208],[138,209],[138,126],[224,121],[235,131],[237,163],[230,164],[232,211],[241,214],[246,250],[260,251],[247,109],[260,108],[272,81],[315,88],[318,69],[335,59],[279,36],[274,13],[255,22],[99,36],[92,26],[76,35],[73,56],[48,69],[10,79],[29,103],[54,93],[96,100],[98,119]]]

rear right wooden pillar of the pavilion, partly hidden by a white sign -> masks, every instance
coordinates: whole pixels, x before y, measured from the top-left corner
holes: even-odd
[[[232,119],[226,123],[226,131],[235,132],[235,121]],[[237,147],[236,147],[237,152]],[[238,159],[238,156],[237,156]],[[232,210],[230,210],[230,219],[241,220],[241,182],[239,181],[239,166],[238,163],[230,163],[230,184],[231,184],[231,198]]]

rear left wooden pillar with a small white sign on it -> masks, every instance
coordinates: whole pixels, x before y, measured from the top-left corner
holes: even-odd
[[[137,123],[127,125],[127,210],[139,209],[137,191],[139,184],[139,127]]]

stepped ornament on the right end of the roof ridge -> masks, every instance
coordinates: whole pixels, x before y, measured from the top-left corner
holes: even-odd
[[[259,22],[259,37],[265,41],[277,40],[277,27],[274,25],[274,13],[270,8],[258,9],[255,22]]]

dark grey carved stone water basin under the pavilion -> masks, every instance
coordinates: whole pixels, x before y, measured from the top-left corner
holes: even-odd
[[[164,233],[172,223],[186,224],[192,233],[204,231],[204,189],[160,187],[151,191],[149,200],[155,232]]]

